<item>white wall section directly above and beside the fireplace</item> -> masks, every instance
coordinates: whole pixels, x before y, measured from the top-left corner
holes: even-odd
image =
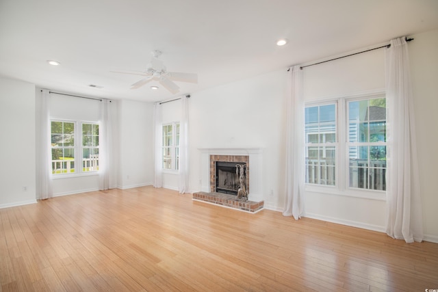
[[[198,148],[263,148],[265,204],[283,206],[285,78],[285,70],[269,72],[191,94],[190,191],[201,190]]]

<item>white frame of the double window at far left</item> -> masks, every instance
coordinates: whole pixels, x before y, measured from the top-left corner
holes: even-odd
[[[83,146],[83,130],[82,125],[83,124],[97,124],[99,125],[99,137],[100,137],[100,129],[101,129],[101,123],[99,121],[83,121],[83,120],[70,120],[65,118],[51,118],[50,124],[52,122],[70,122],[74,124],[75,132],[73,134],[73,137],[75,139],[75,146],[70,147],[74,149],[75,159],[73,159],[75,163],[75,172],[70,173],[60,173],[60,174],[54,174],[53,173],[53,166],[51,165],[50,174],[53,179],[57,178],[72,178],[77,176],[94,176],[99,174],[99,170],[92,170],[92,171],[83,171],[83,149],[84,148],[90,148],[88,146]],[[52,131],[50,128],[50,139],[51,139]],[[50,141],[51,145],[51,141]],[[99,146],[94,147],[100,149],[100,140],[99,140]],[[51,152],[53,149],[53,146],[50,146]],[[51,159],[52,161],[52,159]],[[52,162],[51,162],[52,163]]]

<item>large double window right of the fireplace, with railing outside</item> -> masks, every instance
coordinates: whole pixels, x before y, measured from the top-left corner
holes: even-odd
[[[385,175],[385,97],[305,107],[305,183],[385,191]]]

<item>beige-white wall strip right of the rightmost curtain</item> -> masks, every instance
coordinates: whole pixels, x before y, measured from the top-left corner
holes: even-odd
[[[415,97],[417,152],[426,239],[438,242],[438,29],[414,35],[409,57]]]

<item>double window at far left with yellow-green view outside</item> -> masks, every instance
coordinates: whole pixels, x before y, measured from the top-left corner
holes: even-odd
[[[81,127],[79,137],[77,124]],[[99,170],[99,124],[52,120],[51,152],[52,174],[96,172]],[[76,165],[81,167],[76,168]]]

